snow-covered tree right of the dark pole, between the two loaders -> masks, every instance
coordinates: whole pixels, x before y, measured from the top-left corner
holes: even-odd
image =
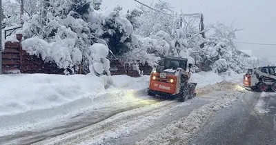
[[[244,55],[235,46],[235,32],[241,29],[224,23],[217,23],[213,28],[215,32],[206,39],[205,47],[200,50],[204,70],[240,73],[253,66],[253,58]]]

